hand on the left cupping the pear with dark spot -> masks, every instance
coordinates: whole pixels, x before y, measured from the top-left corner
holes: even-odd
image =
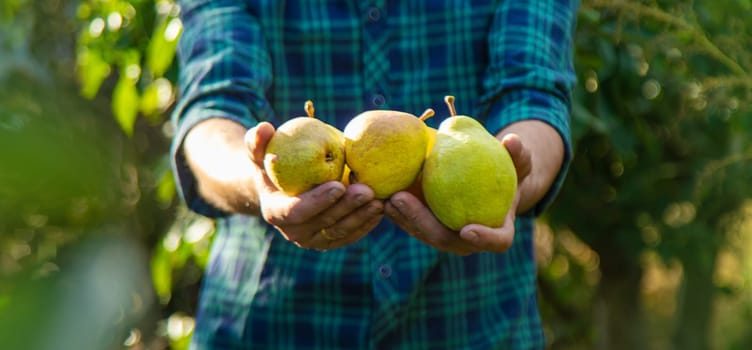
[[[338,181],[321,184],[297,196],[279,191],[264,172],[266,145],[274,127],[260,123],[245,134],[250,158],[263,176],[256,184],[261,215],[296,245],[328,250],[352,244],[370,232],[383,217],[384,205],[365,185],[347,188]]]

